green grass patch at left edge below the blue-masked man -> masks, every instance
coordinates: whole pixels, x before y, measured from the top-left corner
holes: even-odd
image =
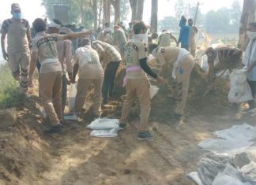
[[[24,94],[13,79],[7,63],[0,64],[0,109],[22,105]]]

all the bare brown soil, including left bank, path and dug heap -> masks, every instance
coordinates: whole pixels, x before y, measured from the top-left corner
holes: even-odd
[[[106,117],[121,116],[125,89],[119,76],[123,74],[120,68],[115,97],[103,107]],[[145,142],[137,141],[137,102],[130,114],[130,127],[116,138],[89,136],[85,126],[92,120],[90,111],[85,112],[82,122],[66,121],[61,134],[43,135],[43,128],[49,124],[40,113],[34,87],[24,105],[0,111],[0,184],[194,184],[186,173],[197,169],[202,153],[198,142],[233,124],[255,124],[254,117],[243,113],[246,105],[228,103],[228,81],[217,79],[216,91],[202,97],[205,79],[201,69],[194,68],[186,113],[180,121],[168,117],[175,102],[168,87],[160,86],[152,99],[149,120],[158,125],[157,137]],[[92,91],[88,103],[91,97]]]

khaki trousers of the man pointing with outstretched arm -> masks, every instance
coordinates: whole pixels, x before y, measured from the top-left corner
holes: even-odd
[[[40,74],[40,99],[53,126],[62,121],[62,72]]]

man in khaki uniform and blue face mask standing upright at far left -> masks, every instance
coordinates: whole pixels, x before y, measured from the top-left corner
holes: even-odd
[[[12,4],[11,13],[13,17],[2,23],[2,56],[8,61],[9,68],[13,72],[13,78],[20,82],[21,91],[25,93],[28,91],[30,28],[28,20],[21,19],[21,8],[17,3]]]

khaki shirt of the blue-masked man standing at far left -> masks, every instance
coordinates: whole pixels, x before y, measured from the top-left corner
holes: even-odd
[[[7,52],[14,54],[29,50],[27,31],[29,30],[28,20],[7,19],[2,23],[1,33],[7,34]]]

